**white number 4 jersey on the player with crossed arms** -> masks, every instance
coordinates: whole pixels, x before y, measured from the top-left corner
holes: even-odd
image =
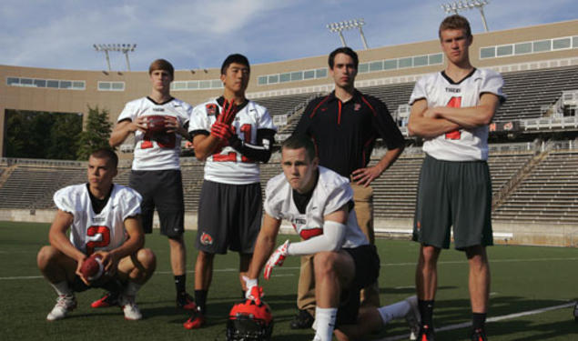
[[[443,72],[425,75],[416,82],[411,93],[410,105],[426,99],[428,107],[468,107],[480,104],[480,96],[491,93],[505,100],[502,93],[502,75],[490,69],[473,69],[459,83]],[[436,159],[446,161],[474,161],[488,159],[488,125],[471,129],[462,128],[427,139],[423,151]]]

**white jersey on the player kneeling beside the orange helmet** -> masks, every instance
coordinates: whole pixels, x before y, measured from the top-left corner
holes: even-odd
[[[323,234],[323,217],[348,205],[352,200],[353,190],[348,178],[319,165],[319,180],[313,189],[305,214],[300,214],[295,206],[293,189],[283,173],[273,177],[267,183],[264,207],[269,216],[288,220],[299,236],[307,239],[310,236]],[[352,248],[366,244],[369,242],[357,224],[355,210],[351,209],[341,247]]]

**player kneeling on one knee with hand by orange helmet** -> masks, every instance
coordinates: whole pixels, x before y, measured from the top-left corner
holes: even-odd
[[[315,146],[306,136],[292,135],[283,142],[281,157],[283,174],[267,184],[266,214],[246,278],[247,298],[261,296],[257,278],[263,266],[269,279],[286,256],[314,255],[314,340],[331,340],[333,332],[340,340],[360,339],[404,316],[417,329],[415,296],[391,306],[360,308],[360,289],[377,280],[380,258],[357,224],[349,180],[319,166]],[[282,219],[305,240],[288,240],[272,252]]]

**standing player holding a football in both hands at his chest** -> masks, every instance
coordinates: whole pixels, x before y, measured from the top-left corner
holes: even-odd
[[[130,187],[143,197],[142,219],[145,233],[152,233],[153,214],[157,208],[160,233],[168,237],[170,265],[175,276],[177,306],[194,309],[192,297],[186,291],[187,250],[183,239],[185,205],[180,173],[180,142],[189,139],[186,126],[192,107],[170,95],[174,79],[173,65],[157,59],[148,68],[151,93],[128,102],[118,115],[117,125],[109,143],[121,145],[128,135],[135,135],[135,157],[130,173]],[[149,129],[147,116],[164,115],[165,132]],[[93,307],[116,304],[117,293],[108,293],[93,303]]]

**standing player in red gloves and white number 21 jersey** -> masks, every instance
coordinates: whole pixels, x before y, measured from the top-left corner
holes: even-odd
[[[244,55],[228,55],[221,66],[222,96],[195,106],[189,125],[195,155],[205,161],[198,204],[195,302],[184,326],[205,324],[213,259],[227,249],[239,254],[246,274],[261,223],[258,162],[268,162],[277,128],[268,110],[245,97],[250,68]],[[241,286],[245,290],[244,282]]]

